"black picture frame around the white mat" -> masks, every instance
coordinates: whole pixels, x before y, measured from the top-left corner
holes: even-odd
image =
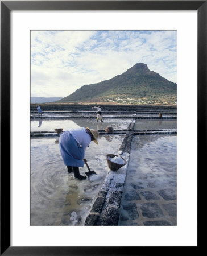
[[[196,10],[197,174],[206,158],[207,1],[1,1],[1,255],[149,255],[159,246],[10,246],[10,13],[12,10]],[[192,117],[196,118],[196,117]],[[7,131],[7,136],[3,131]],[[198,197],[197,197],[198,198]],[[189,224],[190,225],[190,224]],[[197,236],[198,241],[198,236]],[[198,249],[190,246],[191,252]],[[186,248],[185,252],[186,252]],[[175,253],[176,246],[171,248]],[[179,247],[181,251],[181,247]]]

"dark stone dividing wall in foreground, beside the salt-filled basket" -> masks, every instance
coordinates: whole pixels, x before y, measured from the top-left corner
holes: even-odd
[[[119,155],[123,156],[127,164],[118,171],[109,171],[105,181],[92,206],[90,214],[85,220],[85,226],[116,226],[119,220],[119,207],[122,200],[123,186],[129,162],[129,151],[133,134],[126,133],[119,148]],[[127,152],[125,151],[127,149]]]

